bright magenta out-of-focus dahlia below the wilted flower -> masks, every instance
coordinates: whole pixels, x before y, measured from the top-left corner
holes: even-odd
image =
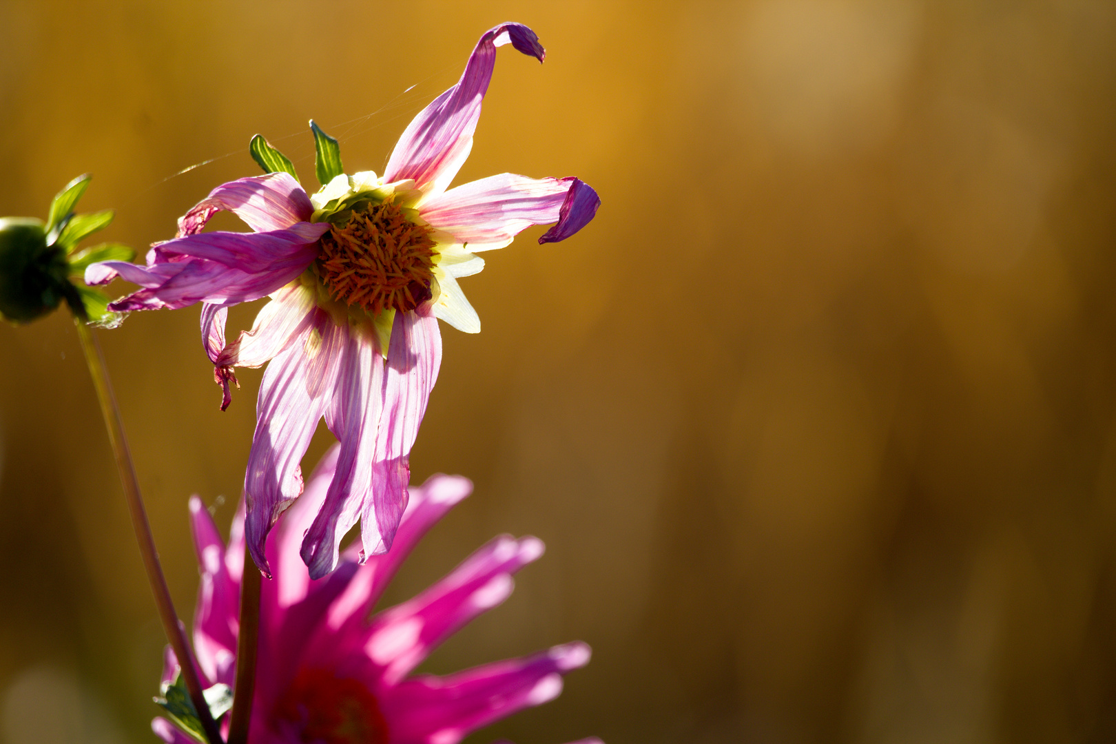
[[[337,462],[335,446],[267,540],[275,580],[263,582],[260,597],[249,741],[456,744],[481,726],[556,697],[561,676],[589,660],[585,644],[555,646],[446,677],[411,676],[434,647],[511,593],[511,574],[542,554],[536,538],[498,537],[417,597],[368,617],[419,539],[469,495],[472,485],[463,477],[437,475],[411,489],[389,552],[362,566],[349,550],[334,573],[310,579],[295,549],[326,499]],[[206,687],[231,687],[243,514],[237,515],[225,547],[196,497],[190,512],[202,573],[194,615],[198,664]],[[177,669],[170,649],[167,655],[165,683]],[[165,742],[191,741],[164,718],[156,718],[152,728]]]

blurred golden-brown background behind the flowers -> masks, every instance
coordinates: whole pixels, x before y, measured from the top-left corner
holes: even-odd
[[[89,171],[143,249],[257,132],[309,176],[310,117],[382,171],[504,20],[547,62],[501,50],[458,183],[604,205],[464,280],[484,330],[443,325],[412,464],[475,492],[388,599],[533,533],[424,669],[595,656],[470,742],[1116,738],[1105,0],[3,0],[0,213]],[[218,410],[196,309],[100,337],[189,615],[186,496],[228,523],[260,375]],[[0,327],[0,741],[154,742],[164,641],[65,312]]]

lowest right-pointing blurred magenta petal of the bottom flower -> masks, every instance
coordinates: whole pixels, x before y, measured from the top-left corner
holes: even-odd
[[[562,675],[588,664],[590,654],[585,644],[565,644],[448,677],[408,679],[382,700],[393,744],[456,744],[481,726],[557,697]]]

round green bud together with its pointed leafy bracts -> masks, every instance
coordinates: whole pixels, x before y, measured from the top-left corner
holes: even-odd
[[[58,192],[46,223],[35,218],[0,218],[0,317],[29,322],[66,300],[74,315],[87,322],[115,326],[123,318],[108,312],[107,296],[80,281],[90,263],[135,257],[131,248],[115,243],[77,251],[80,241],[113,221],[112,210],[74,213],[89,177],[80,175]]]

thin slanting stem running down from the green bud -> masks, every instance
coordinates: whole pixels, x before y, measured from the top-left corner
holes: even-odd
[[[132,453],[128,451],[128,442],[124,436],[124,423],[121,421],[121,409],[116,405],[116,396],[113,393],[113,385],[108,379],[108,369],[105,367],[105,355],[100,351],[100,344],[93,331],[78,318],[74,319],[77,327],[77,337],[81,341],[81,350],[85,351],[85,360],[89,365],[89,375],[93,377],[93,386],[97,390],[97,400],[100,403],[100,414],[105,419],[105,428],[108,431],[108,442],[113,445],[113,454],[116,456],[116,467],[121,474],[121,485],[124,486],[124,499],[128,504],[128,512],[132,515],[132,528],[136,533],[136,542],[140,544],[140,554],[143,555],[144,568],[147,570],[147,581],[151,583],[151,591],[155,596],[155,605],[158,607],[158,617],[163,621],[163,630],[166,632],[171,648],[179,659],[182,668],[182,677],[190,692],[190,699],[198,712],[198,718],[205,729],[205,736],[210,744],[222,744],[221,732],[217,727],[217,722],[210,714],[205,696],[202,694],[201,680],[198,678],[198,669],[194,665],[194,655],[186,641],[186,632],[179,616],[174,611],[174,602],[171,600],[171,591],[166,587],[166,578],[158,563],[158,552],[155,550],[155,539],[151,534],[151,524],[147,522],[147,512],[143,506],[143,497],[140,495],[140,483],[136,481],[135,465],[132,463]]]

